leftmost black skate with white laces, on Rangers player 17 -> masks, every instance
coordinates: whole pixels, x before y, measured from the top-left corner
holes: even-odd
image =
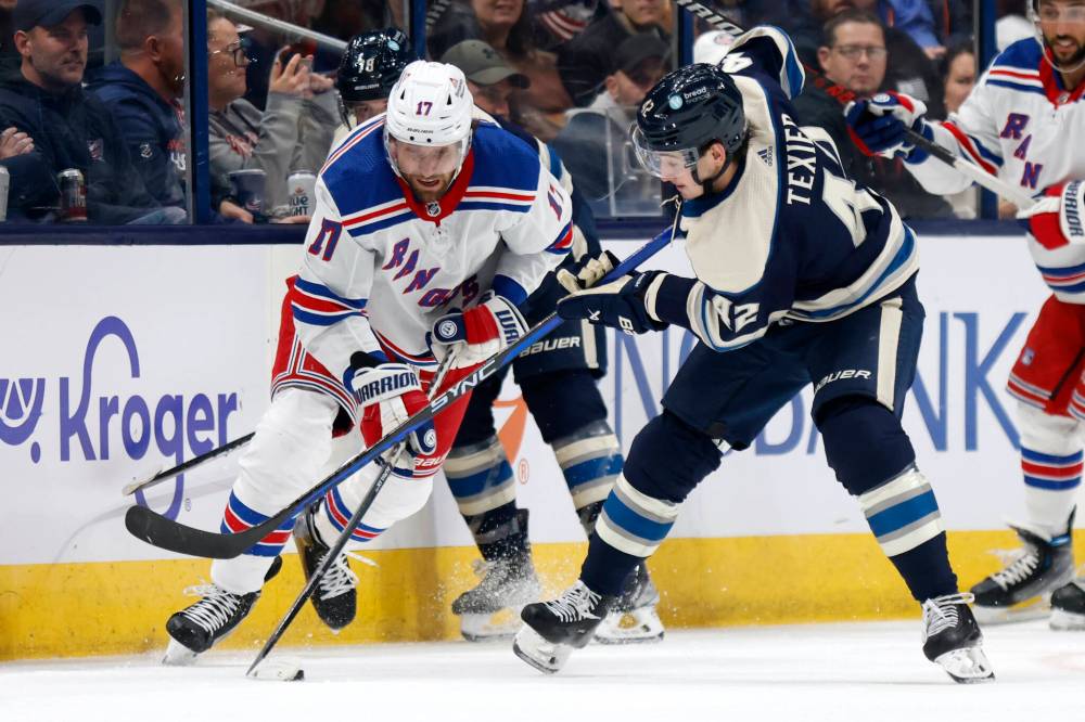
[[[264,581],[270,580],[282,568],[282,557],[277,556]],[[200,584],[184,590],[186,596],[202,597],[195,604],[174,614],[166,621],[169,646],[162,663],[184,667],[196,656],[207,652],[219,640],[228,636],[252,611],[260,593],[234,594],[217,584]]]

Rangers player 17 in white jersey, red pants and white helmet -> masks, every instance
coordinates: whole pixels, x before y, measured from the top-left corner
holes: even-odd
[[[360,424],[371,444],[423,408],[448,353],[444,386],[526,332],[518,305],[567,252],[570,202],[537,155],[497,126],[473,123],[472,107],[462,73],[417,61],[387,113],[328,157],[280,333],[292,343],[280,346],[271,405],[241,460],[224,531],[251,528],[308,489],[334,431]],[[408,437],[409,463],[393,467],[353,541],[422,507],[469,398]],[[196,588],[202,598],[167,622],[167,661],[190,661],[237,627],[292,529],[327,550],[376,473],[363,468],[296,527],[215,560],[213,583]]]

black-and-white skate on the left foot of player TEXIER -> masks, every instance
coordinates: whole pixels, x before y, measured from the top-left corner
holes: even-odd
[[[596,594],[577,580],[551,602],[528,604],[520,613],[523,628],[512,650],[545,674],[553,674],[569,660],[573,649],[585,647],[616,597]]]

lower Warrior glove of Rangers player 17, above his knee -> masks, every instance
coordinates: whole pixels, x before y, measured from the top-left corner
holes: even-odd
[[[347,372],[347,390],[362,409],[361,433],[372,446],[430,403],[418,373],[406,363],[381,363]],[[407,436],[412,456],[430,456],[437,449],[437,431],[427,421]]]

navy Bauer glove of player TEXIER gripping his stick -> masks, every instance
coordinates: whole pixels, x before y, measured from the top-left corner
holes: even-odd
[[[648,313],[644,296],[663,271],[648,271],[618,279],[595,288],[578,291],[558,301],[558,315],[563,319],[587,319],[627,334],[663,331],[667,324]]]

